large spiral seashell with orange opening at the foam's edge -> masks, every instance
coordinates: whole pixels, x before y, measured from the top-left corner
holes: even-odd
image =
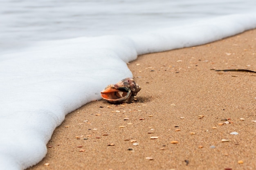
[[[101,97],[111,104],[130,103],[140,90],[133,78],[125,78],[117,84],[108,85],[101,91]]]

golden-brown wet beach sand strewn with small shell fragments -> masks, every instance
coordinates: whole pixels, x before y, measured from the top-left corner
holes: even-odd
[[[100,100],[68,114],[29,170],[256,169],[256,73],[211,70],[256,71],[256,30],[128,66],[141,86],[137,101]]]

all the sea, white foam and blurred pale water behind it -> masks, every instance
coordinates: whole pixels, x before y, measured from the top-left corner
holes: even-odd
[[[72,110],[132,77],[137,55],[256,28],[255,0],[0,0],[0,166],[45,157]]]

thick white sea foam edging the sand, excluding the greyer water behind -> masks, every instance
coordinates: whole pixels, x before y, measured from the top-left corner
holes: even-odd
[[[0,165],[21,170],[47,153],[65,115],[132,77],[137,55],[205,44],[256,27],[256,13],[227,15],[141,34],[35,42],[0,57]],[[86,114],[86,113],[85,113]]]

